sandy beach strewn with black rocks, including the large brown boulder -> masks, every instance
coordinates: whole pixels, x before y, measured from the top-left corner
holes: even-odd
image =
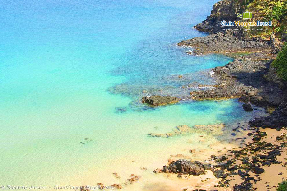
[[[228,150],[223,155],[211,155],[206,159],[209,163],[192,162],[185,159],[172,161],[169,166],[156,169],[154,173],[171,173],[178,174],[178,177],[190,178],[190,175],[200,176],[206,174],[207,171],[211,171],[214,178],[219,180],[214,185],[215,189],[210,191],[225,190],[230,186],[234,191],[256,190],[257,182],[267,181],[261,178],[262,174],[266,173],[265,169],[267,168],[269,172],[272,170],[270,167],[275,164],[281,167],[282,172],[279,173],[279,176],[284,174],[283,172],[286,172],[286,162],[278,160],[278,156],[281,159],[282,152],[286,151],[286,130],[283,130],[284,133],[278,131],[276,137],[270,137],[267,136],[264,129],[262,131],[260,128],[251,126],[241,128],[246,128],[250,132],[247,134],[248,139],[250,139],[248,143],[245,143],[248,140],[247,138],[238,139],[243,145],[241,149]],[[204,184],[201,187],[203,189],[192,190],[191,187],[186,188],[186,190],[207,191],[204,189]],[[267,190],[271,189],[268,187]]]

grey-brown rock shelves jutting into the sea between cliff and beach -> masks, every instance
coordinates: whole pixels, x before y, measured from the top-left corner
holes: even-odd
[[[214,40],[214,38],[217,40]],[[183,95],[182,98],[195,100],[239,98],[239,101],[250,102],[260,107],[278,107],[286,99],[286,83],[280,81],[274,72],[274,68],[270,67],[271,62],[280,50],[280,43],[276,39],[268,42],[254,39],[249,41],[236,39],[237,37],[234,34],[226,31],[225,33],[211,34],[179,43],[179,46],[199,46],[200,48],[194,50],[195,54],[256,50],[256,52],[248,55],[237,55],[233,62],[229,62],[225,66],[213,68],[212,72],[214,74],[212,77],[216,79],[217,84],[206,85],[212,88],[205,91],[192,91],[189,97]],[[274,46],[274,44],[278,46]],[[172,103],[165,97],[159,97],[158,95],[154,97],[157,99],[156,102],[160,102],[156,105]],[[142,103],[151,104],[152,101],[149,99],[153,100],[154,98],[144,97]],[[177,102],[180,99],[178,98]]]

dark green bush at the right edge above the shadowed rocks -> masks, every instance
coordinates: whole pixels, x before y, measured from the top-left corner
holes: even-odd
[[[287,43],[282,47],[271,65],[277,68],[279,78],[287,80]]]

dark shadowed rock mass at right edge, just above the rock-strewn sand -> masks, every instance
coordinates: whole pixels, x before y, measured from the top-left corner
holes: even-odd
[[[249,122],[255,127],[269,127],[271,129],[276,129],[280,127],[287,126],[287,102],[283,102],[279,105],[275,111],[267,116],[254,119]]]

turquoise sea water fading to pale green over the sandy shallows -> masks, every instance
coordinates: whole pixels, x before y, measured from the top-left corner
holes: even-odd
[[[196,140],[148,133],[248,118],[236,100],[139,103],[154,93],[188,95],[181,86],[212,82],[209,69],[231,60],[176,46],[207,35],[193,25],[216,1],[2,1],[0,184],[120,182],[114,171],[157,166]]]

